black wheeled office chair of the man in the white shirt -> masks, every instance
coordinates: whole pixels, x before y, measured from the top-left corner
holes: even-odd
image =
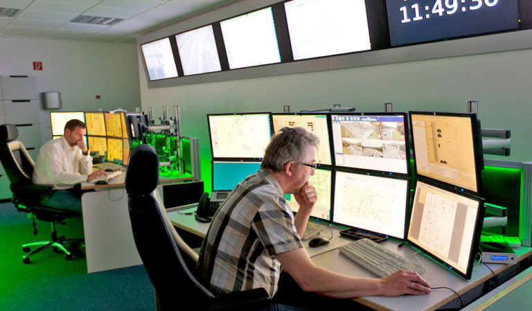
[[[10,181],[12,202],[18,211],[33,214],[33,234],[37,235],[35,218],[52,224],[51,240],[28,243],[22,246],[22,250],[26,252],[22,262],[30,263],[30,256],[49,248],[66,254],[65,260],[73,259],[74,255],[82,257],[83,253],[79,247],[83,239],[57,237],[57,231],[55,230],[56,223],[60,223],[68,217],[78,217],[80,214],[62,211],[40,202],[40,198],[44,193],[53,191],[53,186],[33,184],[32,176],[35,162],[31,159],[24,145],[17,141],[18,136],[19,132],[16,125],[0,125],[0,161]],[[67,245],[69,246],[68,248]],[[32,247],[37,248],[32,251]]]

